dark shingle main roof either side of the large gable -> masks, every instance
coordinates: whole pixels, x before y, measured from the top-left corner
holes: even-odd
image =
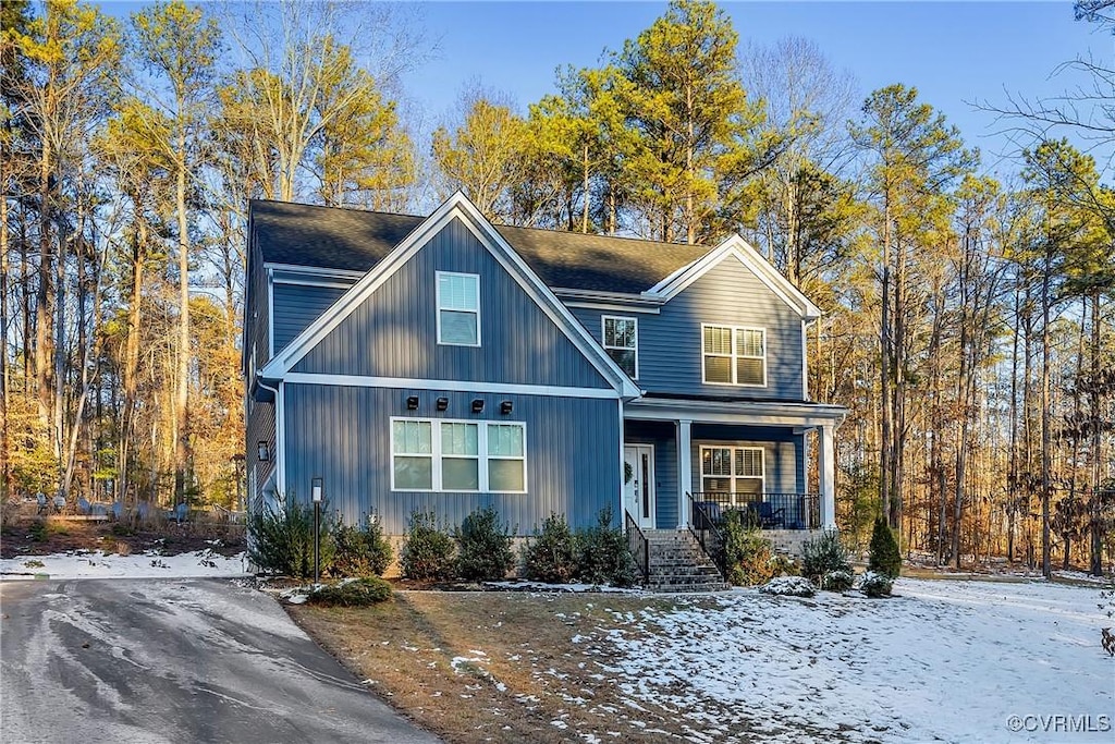
[[[425,218],[253,200],[253,238],[265,263],[367,271]],[[496,225],[551,288],[639,293],[710,249],[630,238]]]

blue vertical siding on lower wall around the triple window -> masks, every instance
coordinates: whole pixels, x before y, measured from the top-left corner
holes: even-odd
[[[418,408],[406,398],[417,395]],[[438,397],[449,399],[438,412]],[[472,400],[483,398],[482,414]],[[514,409],[500,414],[501,400]],[[434,510],[447,525],[473,510],[495,508],[518,534],[530,534],[550,514],[570,524],[592,524],[611,504],[618,522],[619,406],[614,399],[488,395],[438,390],[285,384],[287,490],[309,499],[321,477],[330,510],[347,522],[375,512],[388,534],[404,534],[410,514]],[[527,493],[420,493],[391,491],[390,419],[452,418],[526,424]]]

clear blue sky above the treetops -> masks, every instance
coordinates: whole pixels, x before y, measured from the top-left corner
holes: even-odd
[[[1009,149],[993,117],[964,102],[1005,104],[1006,91],[1048,96],[1069,87],[1050,78],[1061,62],[1092,52],[1108,61],[1115,37],[1073,18],[1060,2],[721,2],[743,42],[812,39],[862,96],[903,83],[960,127],[995,167]],[[437,119],[478,79],[525,112],[554,89],[554,69],[597,65],[662,15],[666,2],[427,2],[423,16],[438,54],[405,79]],[[746,81],[745,81],[746,84]],[[1004,170],[1014,170],[1004,164]]]

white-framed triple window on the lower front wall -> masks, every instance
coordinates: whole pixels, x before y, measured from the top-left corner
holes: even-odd
[[[392,491],[526,492],[526,425],[391,419]]]

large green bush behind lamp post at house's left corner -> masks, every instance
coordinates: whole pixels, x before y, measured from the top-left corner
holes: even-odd
[[[322,512],[326,504],[322,504]],[[329,520],[319,525],[320,568],[329,571],[333,561],[333,541]],[[313,505],[287,497],[285,506],[271,504],[253,512],[248,520],[251,540],[248,559],[264,573],[281,573],[299,579],[313,576]]]

